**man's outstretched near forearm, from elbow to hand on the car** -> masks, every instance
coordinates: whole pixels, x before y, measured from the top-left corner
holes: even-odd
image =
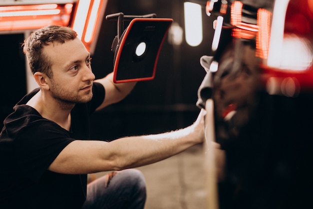
[[[113,154],[116,156],[116,170],[151,164],[178,154],[201,143],[204,139],[203,129],[202,121],[197,120],[189,127],[172,132],[111,141],[110,150],[117,152]]]

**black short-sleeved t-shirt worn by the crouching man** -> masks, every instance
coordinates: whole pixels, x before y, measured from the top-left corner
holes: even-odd
[[[67,131],[25,105],[39,89],[24,96],[4,120],[0,133],[0,208],[80,208],[85,200],[86,174],[47,170],[73,140],[89,139],[89,115],[104,99],[104,88],[94,83],[92,100],[76,104]]]

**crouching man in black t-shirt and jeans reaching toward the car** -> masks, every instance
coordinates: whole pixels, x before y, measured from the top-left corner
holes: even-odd
[[[123,99],[135,83],[95,79],[90,54],[74,31],[48,26],[24,41],[40,88],[19,101],[0,134],[0,208],[143,208],[134,168],[203,141],[203,112],[169,133],[88,140],[88,116]],[[122,170],[88,184],[86,173]]]

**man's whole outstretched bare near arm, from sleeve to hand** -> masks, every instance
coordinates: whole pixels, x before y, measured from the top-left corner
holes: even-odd
[[[49,166],[58,173],[122,170],[173,156],[204,140],[204,110],[190,126],[168,133],[124,137],[111,142],[75,140]]]

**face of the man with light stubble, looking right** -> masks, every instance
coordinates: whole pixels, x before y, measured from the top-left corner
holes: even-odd
[[[47,78],[51,96],[65,103],[85,103],[92,98],[90,54],[78,38],[43,48],[49,59],[52,78]]]

